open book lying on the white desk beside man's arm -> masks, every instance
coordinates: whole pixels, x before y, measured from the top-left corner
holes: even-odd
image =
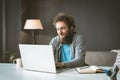
[[[76,71],[80,74],[94,74],[94,73],[104,73],[104,69],[99,66],[85,66],[85,67],[77,67]]]

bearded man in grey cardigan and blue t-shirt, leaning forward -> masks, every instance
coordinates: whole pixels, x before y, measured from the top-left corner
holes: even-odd
[[[58,35],[50,45],[53,46],[57,67],[77,67],[85,64],[85,42],[83,37],[74,32],[73,18],[64,13],[59,13],[53,20]]]

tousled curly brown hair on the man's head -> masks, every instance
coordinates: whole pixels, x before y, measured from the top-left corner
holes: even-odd
[[[53,25],[55,26],[58,21],[64,21],[66,25],[70,28],[71,26],[73,29],[75,28],[75,22],[72,16],[66,13],[58,13],[53,20]]]

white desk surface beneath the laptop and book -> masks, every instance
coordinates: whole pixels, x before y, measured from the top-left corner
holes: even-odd
[[[104,73],[79,74],[74,68],[57,74],[34,72],[0,63],[0,80],[109,80],[109,77]]]

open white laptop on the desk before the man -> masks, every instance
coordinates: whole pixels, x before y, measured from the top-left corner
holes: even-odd
[[[48,73],[58,73],[67,69],[57,70],[52,45],[19,44],[23,69]]]

